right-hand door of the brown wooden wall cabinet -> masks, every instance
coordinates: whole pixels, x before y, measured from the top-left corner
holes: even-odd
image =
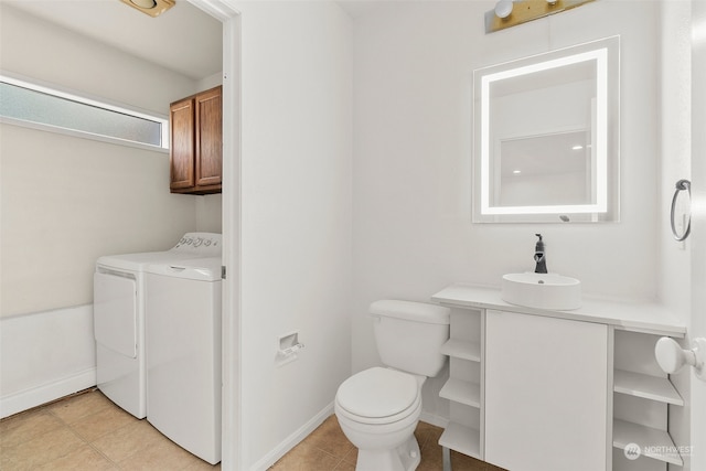
[[[221,87],[196,96],[196,185],[221,184],[223,119]]]

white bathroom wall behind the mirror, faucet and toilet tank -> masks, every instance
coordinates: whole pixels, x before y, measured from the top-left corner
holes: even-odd
[[[494,1],[391,2],[354,25],[353,370],[378,363],[367,315],[381,298],[427,301],[467,281],[500,287],[534,268],[586,295],[656,299],[660,246],[659,3],[603,0],[485,34]],[[621,35],[621,222],[471,224],[473,69]],[[448,415],[425,386],[425,411]]]

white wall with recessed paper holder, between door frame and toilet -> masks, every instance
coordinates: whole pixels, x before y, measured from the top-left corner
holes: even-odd
[[[351,372],[350,18],[333,2],[240,11],[240,469],[327,415]],[[278,366],[280,335],[306,347]]]

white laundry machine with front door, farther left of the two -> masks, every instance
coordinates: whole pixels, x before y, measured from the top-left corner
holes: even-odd
[[[137,418],[147,416],[145,276],[150,264],[221,257],[221,234],[186,233],[174,247],[98,258],[94,336],[98,388]]]

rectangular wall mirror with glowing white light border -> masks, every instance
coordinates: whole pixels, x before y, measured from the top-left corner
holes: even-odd
[[[473,222],[619,220],[620,40],[473,74]]]

